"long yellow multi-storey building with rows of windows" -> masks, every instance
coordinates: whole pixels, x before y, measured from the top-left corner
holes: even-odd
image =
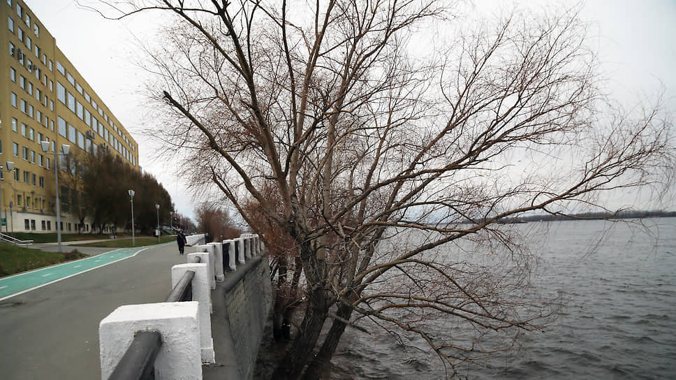
[[[138,145],[59,50],[24,1],[0,3],[0,212],[2,231],[57,231],[54,147],[75,155],[107,149],[138,166]],[[40,142],[50,141],[43,152]],[[81,151],[81,152],[80,152]],[[7,162],[13,162],[13,170]],[[59,172],[59,187],[63,171]],[[80,221],[61,199],[61,231]],[[65,208],[64,208],[65,207]],[[85,220],[82,230],[90,231]]]

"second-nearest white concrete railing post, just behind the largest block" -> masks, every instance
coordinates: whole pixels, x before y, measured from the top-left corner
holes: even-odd
[[[198,255],[198,254],[189,254]],[[199,304],[198,318],[200,322],[200,346],[202,347],[202,362],[214,363],[216,354],[214,353],[214,339],[211,333],[211,313],[213,310],[211,290],[209,286],[209,270],[207,263],[189,263],[174,265],[171,268],[171,286],[176,286],[183,274],[193,270],[193,301]]]

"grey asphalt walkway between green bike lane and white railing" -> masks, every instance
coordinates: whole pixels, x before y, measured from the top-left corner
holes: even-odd
[[[98,323],[121,305],[163,302],[185,261],[163,244],[1,301],[0,378],[101,379]]]

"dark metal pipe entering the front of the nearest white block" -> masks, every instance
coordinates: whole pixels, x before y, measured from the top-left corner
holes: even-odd
[[[138,331],[108,380],[154,380],[155,358],[161,346],[159,331]]]

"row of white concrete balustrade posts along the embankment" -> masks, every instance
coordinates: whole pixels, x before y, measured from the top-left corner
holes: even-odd
[[[237,270],[237,264],[260,255],[261,244],[254,234],[210,244],[200,244],[205,235],[186,238],[196,252],[186,255],[187,263],[171,268],[171,281],[174,287],[186,271],[195,272],[192,301],[124,305],[106,316],[99,325],[102,380],[110,377],[135,332],[140,330],[157,330],[162,335],[163,344],[155,360],[158,380],[202,379],[201,364],[215,362],[211,289],[216,288],[216,280],[222,282],[225,278],[223,255],[228,254],[230,270]],[[222,244],[226,243],[228,251],[223,252]],[[239,260],[235,259],[235,246]],[[196,263],[198,257],[200,261]]]

